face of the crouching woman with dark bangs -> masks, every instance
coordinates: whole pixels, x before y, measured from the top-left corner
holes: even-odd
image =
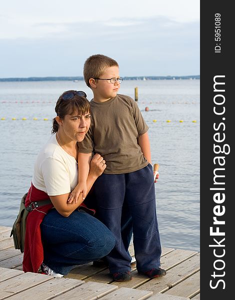
[[[63,131],[63,134],[69,139],[82,141],[90,126],[90,113],[88,112],[83,115],[78,112],[66,114],[64,118],[61,119],[61,124],[61,131]]]

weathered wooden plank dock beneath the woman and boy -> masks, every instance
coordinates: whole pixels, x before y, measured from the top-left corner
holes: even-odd
[[[14,249],[10,227],[0,226],[0,300],[199,300],[197,251],[162,248],[167,274],[150,279],[132,265],[132,280],[113,281],[108,268],[79,265],[64,278],[22,271],[23,254]],[[133,246],[129,249],[133,255]]]

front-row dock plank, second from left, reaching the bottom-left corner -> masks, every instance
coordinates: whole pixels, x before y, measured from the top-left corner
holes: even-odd
[[[1,282],[0,299],[51,279],[53,279],[51,276],[31,272],[20,274],[16,277]]]

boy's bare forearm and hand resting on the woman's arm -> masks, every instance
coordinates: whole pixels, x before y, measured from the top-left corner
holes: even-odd
[[[91,156],[92,153],[78,152],[78,184],[71,191],[69,198],[67,200],[68,203],[72,203],[72,201],[76,203],[80,193],[82,193],[82,199],[84,199],[87,194],[86,179],[89,173]]]

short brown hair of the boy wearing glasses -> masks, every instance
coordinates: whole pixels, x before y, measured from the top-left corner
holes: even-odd
[[[108,56],[102,54],[95,54],[89,56],[86,59],[83,67],[83,76],[86,85],[90,87],[90,78],[99,78],[104,73],[107,67],[113,65],[118,66],[118,63],[116,62],[116,60]]]

